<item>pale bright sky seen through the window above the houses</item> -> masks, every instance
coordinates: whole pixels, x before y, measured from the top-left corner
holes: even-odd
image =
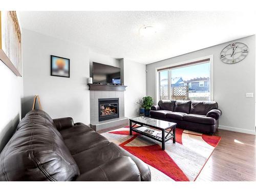
[[[210,77],[210,63],[172,69],[172,78],[182,77],[183,80],[194,79],[197,77]],[[161,79],[167,79],[168,72],[161,72]]]

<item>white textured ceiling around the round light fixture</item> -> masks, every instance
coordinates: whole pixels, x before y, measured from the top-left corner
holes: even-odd
[[[114,58],[152,63],[255,34],[253,12],[22,11],[23,28]],[[157,28],[143,37],[144,25]]]

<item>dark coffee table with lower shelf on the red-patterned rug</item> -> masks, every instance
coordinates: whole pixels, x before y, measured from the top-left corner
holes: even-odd
[[[173,143],[176,142],[175,140],[175,130],[176,130],[176,123],[163,121],[159,119],[153,119],[150,117],[134,117],[130,118],[130,135],[132,132],[139,133],[156,141],[162,143],[162,150],[165,150],[165,142],[173,138]],[[134,123],[134,124],[133,124]],[[136,126],[139,125],[139,126]],[[154,135],[147,133],[145,131],[141,131],[140,127],[146,127],[146,129],[150,130],[159,130],[161,131],[161,135]],[[170,129],[169,131],[167,131]],[[167,134],[166,134],[167,133]]]

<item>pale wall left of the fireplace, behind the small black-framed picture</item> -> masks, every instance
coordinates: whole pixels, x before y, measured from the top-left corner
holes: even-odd
[[[50,76],[50,55],[70,59],[70,78]],[[40,97],[52,118],[73,117],[90,124],[89,49],[68,41],[23,30],[24,111]]]

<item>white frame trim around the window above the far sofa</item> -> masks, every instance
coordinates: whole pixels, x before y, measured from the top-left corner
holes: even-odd
[[[207,59],[207,58],[209,58],[209,63],[210,63],[210,84],[209,84],[209,86],[210,86],[210,100],[214,101],[214,55],[208,55],[208,56],[205,56],[205,57],[186,60],[186,61],[183,61],[183,62],[173,63],[171,65],[155,68],[155,74],[156,74],[156,81],[155,81],[155,95],[156,95],[156,98],[155,98],[155,103],[157,103],[160,100],[159,99],[160,98],[160,95],[159,95],[160,92],[158,91],[160,89],[159,88],[160,85],[159,85],[159,71],[158,70],[168,68],[168,67],[175,67],[175,66],[182,65],[184,63],[194,62],[194,61],[203,60],[203,59]],[[170,62],[171,62],[171,59],[170,59]],[[193,65],[198,65],[198,63],[193,64]],[[177,68],[179,68],[179,67],[177,67]],[[171,77],[171,74],[169,74],[169,75]],[[172,94],[172,93],[170,93],[170,94]]]

